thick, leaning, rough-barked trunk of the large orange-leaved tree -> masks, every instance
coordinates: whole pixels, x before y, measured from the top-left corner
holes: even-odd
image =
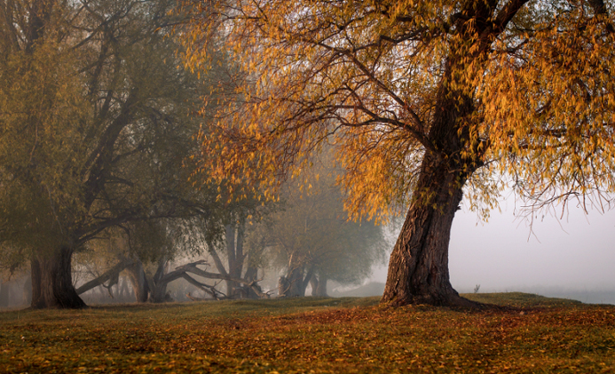
[[[454,69],[449,60],[445,72],[449,82]],[[448,244],[462,187],[482,165],[479,152],[469,152],[468,159],[461,156],[472,146],[463,126],[473,111],[472,102],[471,94],[451,92],[446,84],[440,87],[439,110],[430,130],[435,150],[425,152],[413,202],[390,255],[384,303],[477,306],[453,290],[448,272]]]

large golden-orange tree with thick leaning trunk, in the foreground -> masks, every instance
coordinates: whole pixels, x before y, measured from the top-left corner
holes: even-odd
[[[217,40],[238,64],[237,104],[202,137],[219,179],[275,187],[327,140],[351,212],[409,204],[382,302],[472,305],[448,272],[464,189],[488,208],[501,178],[538,207],[615,188],[612,3],[185,4],[187,62]]]

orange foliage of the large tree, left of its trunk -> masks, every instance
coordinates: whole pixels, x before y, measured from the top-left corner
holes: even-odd
[[[429,23],[438,9],[409,2],[383,15],[360,2],[235,5],[213,6],[240,14],[218,20],[225,24],[224,43],[238,69],[229,93],[240,99],[217,113],[223,124],[202,138],[203,169],[213,162],[218,182],[241,179],[270,197],[280,180],[296,175],[320,147],[333,144],[350,171],[342,182],[355,217],[382,218],[390,203],[404,202],[422,150],[402,129],[425,130],[419,115],[408,110],[429,107],[428,100],[416,100],[423,92],[413,90],[433,90],[434,71],[425,74],[422,68],[441,55],[421,49],[410,59],[405,50],[414,44],[383,40],[407,32],[395,14],[421,15],[417,21]],[[203,27],[194,20],[191,32]],[[390,36],[381,38],[382,33]],[[391,185],[391,180],[398,182]]]

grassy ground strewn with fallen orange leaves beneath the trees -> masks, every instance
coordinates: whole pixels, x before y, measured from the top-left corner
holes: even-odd
[[[294,298],[0,313],[0,372],[615,372],[615,306]]]

